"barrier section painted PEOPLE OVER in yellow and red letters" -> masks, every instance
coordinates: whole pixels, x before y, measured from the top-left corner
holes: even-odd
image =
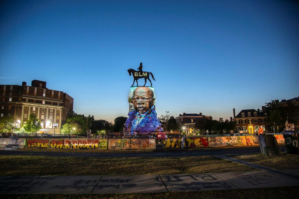
[[[107,139],[27,139],[27,148],[107,149]]]

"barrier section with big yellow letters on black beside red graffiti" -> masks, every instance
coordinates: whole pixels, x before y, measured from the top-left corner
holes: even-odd
[[[207,137],[167,138],[163,141],[163,148],[201,148],[208,146],[209,144]]]

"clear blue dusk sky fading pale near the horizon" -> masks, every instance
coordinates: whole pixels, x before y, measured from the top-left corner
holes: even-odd
[[[46,81],[75,112],[113,121],[143,62],[158,116],[229,119],[299,95],[298,13],[292,1],[1,1],[0,84]]]

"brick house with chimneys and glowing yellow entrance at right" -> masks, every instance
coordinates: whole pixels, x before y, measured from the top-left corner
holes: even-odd
[[[244,133],[254,133],[258,132],[259,126],[262,126],[263,130],[267,130],[267,116],[263,112],[260,112],[259,109],[245,109],[240,111],[238,115],[235,115],[235,109],[233,109],[233,113],[236,131],[244,131]],[[249,132],[249,126],[253,126],[253,132]]]

